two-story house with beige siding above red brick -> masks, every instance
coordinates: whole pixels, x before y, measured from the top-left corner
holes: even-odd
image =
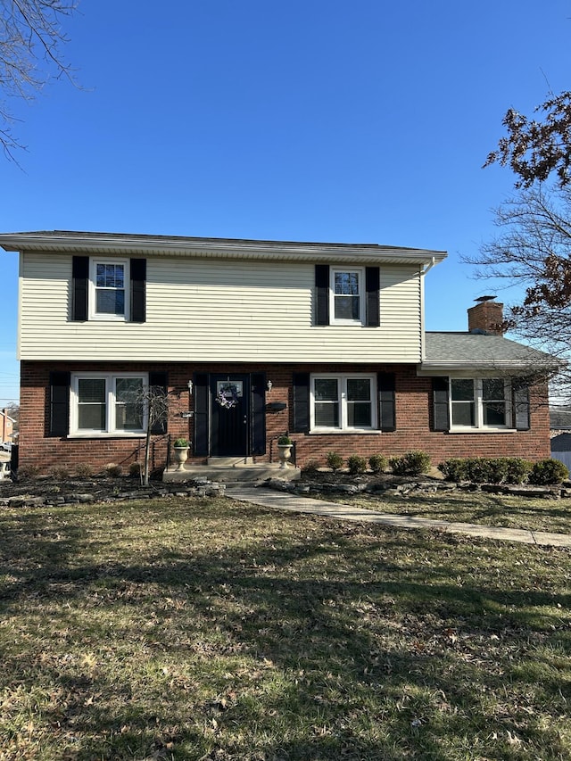
[[[138,394],[168,390],[154,464],[169,440],[208,458],[298,465],[430,453],[433,462],[550,454],[546,355],[494,332],[501,305],[466,333],[424,325],[428,271],[445,252],[377,244],[31,232],[20,252],[20,464],[140,459]],[[540,374],[541,375],[541,374]]]

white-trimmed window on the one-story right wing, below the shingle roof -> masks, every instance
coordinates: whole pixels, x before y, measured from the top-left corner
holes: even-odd
[[[503,378],[451,378],[451,427],[510,427],[509,398],[509,382]]]

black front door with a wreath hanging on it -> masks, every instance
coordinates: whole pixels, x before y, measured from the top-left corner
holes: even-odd
[[[211,456],[246,457],[250,430],[250,376],[211,376]]]

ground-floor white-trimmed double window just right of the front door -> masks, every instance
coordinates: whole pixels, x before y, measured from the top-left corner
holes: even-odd
[[[311,376],[310,427],[316,431],[362,431],[377,427],[374,375]]]

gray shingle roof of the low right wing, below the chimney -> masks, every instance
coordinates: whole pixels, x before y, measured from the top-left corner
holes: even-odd
[[[430,368],[538,368],[554,367],[557,360],[503,335],[426,332],[425,360]]]

